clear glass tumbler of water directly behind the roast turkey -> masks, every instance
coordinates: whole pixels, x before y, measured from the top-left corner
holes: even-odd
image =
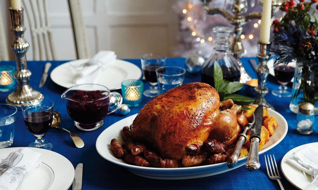
[[[185,69],[178,66],[162,66],[156,69],[158,86],[161,92],[182,85]]]

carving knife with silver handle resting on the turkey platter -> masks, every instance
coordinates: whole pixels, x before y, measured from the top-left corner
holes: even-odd
[[[262,129],[262,119],[263,119],[263,106],[259,105],[255,112],[255,123],[251,128],[250,141],[251,148],[247,156],[247,162],[245,168],[249,170],[258,169],[260,167],[259,163],[259,141],[260,141],[260,132]]]

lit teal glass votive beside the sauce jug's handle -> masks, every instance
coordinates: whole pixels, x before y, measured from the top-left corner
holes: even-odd
[[[124,103],[129,107],[137,107],[141,104],[143,82],[141,80],[128,79],[121,83],[121,93]]]

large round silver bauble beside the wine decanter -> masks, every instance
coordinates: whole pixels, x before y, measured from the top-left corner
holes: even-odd
[[[201,72],[205,58],[200,54],[192,54],[185,60],[185,70],[190,74]]]

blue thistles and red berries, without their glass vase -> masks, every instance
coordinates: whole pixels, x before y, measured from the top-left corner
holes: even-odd
[[[279,55],[276,63],[287,64],[293,59],[318,62],[318,22],[315,15],[317,0],[304,2],[294,0],[283,3],[281,10],[286,15],[281,21],[275,20],[274,47],[272,51]]]

